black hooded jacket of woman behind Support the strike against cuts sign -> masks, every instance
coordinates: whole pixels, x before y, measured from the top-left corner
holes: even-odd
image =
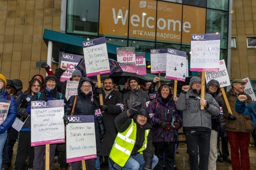
[[[78,84],[78,95],[76,98],[76,105],[74,108],[74,115],[94,115],[95,118],[95,136],[96,136],[96,148],[97,152],[100,151],[100,134],[105,133],[105,128],[102,119],[102,113],[100,112],[99,104],[92,94],[92,91],[87,95],[81,90],[83,82],[88,81],[91,84],[91,89],[94,88],[93,82],[88,77],[82,77]],[[74,104],[75,96],[71,96],[69,101],[65,105],[65,115],[70,115]],[[93,99],[93,101],[92,101]]]

